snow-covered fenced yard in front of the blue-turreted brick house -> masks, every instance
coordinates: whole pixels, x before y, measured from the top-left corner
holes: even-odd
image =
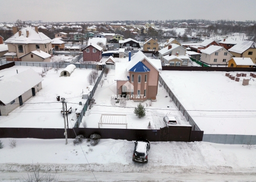
[[[139,119],[134,113],[135,106],[138,103],[132,100],[116,103],[115,99],[112,99],[112,95],[116,94],[116,81],[114,81],[114,72],[111,70],[105,78],[102,87],[99,85],[94,94],[96,105],[93,105],[92,109],[86,111],[86,115],[82,118],[82,122],[87,123],[89,128],[98,128],[98,122],[102,114],[120,114],[127,115],[127,128],[128,129],[147,129],[150,122],[154,129],[160,129],[164,127],[163,117],[165,115],[173,115],[176,117],[177,123],[180,125],[189,125],[186,120],[183,119],[182,114],[177,111],[173,102],[170,102],[170,97],[167,96],[164,87],[158,87],[158,93],[156,96],[156,102],[145,101],[142,104],[146,108],[146,116]],[[117,127],[119,125],[113,125]],[[82,127],[82,125],[80,125]],[[109,127],[106,126],[105,127]],[[122,125],[119,128],[123,128]]]

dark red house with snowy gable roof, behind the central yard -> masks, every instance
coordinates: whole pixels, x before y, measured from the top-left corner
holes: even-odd
[[[100,61],[102,59],[102,47],[91,44],[82,49],[83,61]]]

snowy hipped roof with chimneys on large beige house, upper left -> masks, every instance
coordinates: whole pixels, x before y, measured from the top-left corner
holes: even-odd
[[[27,27],[21,29],[21,35],[19,36],[19,31],[13,36],[5,40],[5,43],[13,44],[46,44],[51,42],[51,38],[47,37],[41,32],[36,32],[34,28]],[[27,37],[27,32],[29,31],[29,36]]]

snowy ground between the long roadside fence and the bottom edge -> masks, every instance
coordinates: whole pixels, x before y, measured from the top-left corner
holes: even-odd
[[[101,172],[105,172],[105,176],[116,174],[119,179],[127,175],[126,180],[129,181],[137,181],[133,178],[133,175],[139,176],[141,173],[143,176],[148,177],[138,181],[147,182],[157,181],[156,179],[159,179],[158,175],[164,175],[165,178],[169,177],[169,180],[171,180],[175,178],[175,175],[179,174],[188,177],[180,180],[180,182],[190,181],[190,175],[224,175],[222,178],[216,178],[224,182],[221,179],[225,179],[226,175],[232,174],[239,177],[247,174],[248,176],[244,179],[250,182],[253,179],[255,180],[256,149],[249,150],[242,145],[206,142],[151,142],[148,163],[139,164],[132,161],[133,141],[102,139],[96,146],[91,146],[86,141],[83,141],[81,146],[74,146],[72,139],[69,139],[68,144],[65,145],[64,139],[42,140],[27,138],[16,139],[16,147],[10,148],[8,138],[1,140],[4,144],[4,147],[0,149],[2,156],[0,157],[1,182],[7,182],[10,177],[12,182],[16,177],[22,178],[22,175],[25,177],[25,172],[31,169],[32,163],[40,164],[42,170],[51,168],[60,177],[64,172],[69,172],[67,179],[70,177],[76,179],[76,174],[78,174],[77,178],[79,178],[81,175],[79,172],[83,172],[90,177],[90,181],[94,181],[91,177],[90,167],[98,179],[102,179]],[[90,148],[92,150],[89,151]],[[90,167],[86,159],[90,163]],[[12,175],[12,172],[17,173]],[[150,175],[152,173],[155,173],[157,177]],[[115,175],[110,175],[101,181],[117,182],[118,178],[116,179],[113,176]],[[212,178],[214,182],[216,179],[214,176]],[[88,178],[86,179],[88,180]],[[201,176],[197,181],[201,182],[203,181],[202,179],[205,179],[205,177]],[[229,176],[229,180],[233,182],[234,178]]]

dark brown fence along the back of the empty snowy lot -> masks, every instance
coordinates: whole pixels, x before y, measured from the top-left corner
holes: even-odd
[[[167,71],[246,71],[255,72],[256,67],[167,67],[162,66],[162,70]]]

